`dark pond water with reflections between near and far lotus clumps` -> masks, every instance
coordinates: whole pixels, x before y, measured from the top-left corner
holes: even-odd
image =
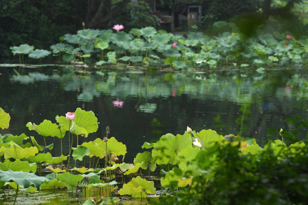
[[[25,133],[43,144],[43,138],[30,132],[26,123],[39,124],[44,119],[55,123],[56,115],[80,107],[92,110],[100,124],[97,132],[79,144],[103,137],[110,126],[111,136],[127,146],[125,161],[132,162],[144,151],[144,141],[165,133],[182,134],[187,125],[197,131],[213,129],[223,135],[253,137],[262,145],[278,139],[280,128],[294,128],[284,119],[307,119],[306,108],[299,108],[308,99],[308,75],[302,69],[265,73],[87,69],[91,73],[80,74],[71,67],[0,67],[0,107],[11,116],[10,127],[0,133]],[[267,135],[269,128],[277,130],[277,135]],[[63,142],[68,147],[66,138]],[[47,144],[51,143],[55,144],[51,154],[59,156],[60,140],[47,137]]]

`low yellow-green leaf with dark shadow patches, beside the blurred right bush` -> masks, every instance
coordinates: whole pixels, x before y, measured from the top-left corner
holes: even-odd
[[[185,179],[183,171],[179,168],[173,168],[172,171],[167,172],[165,177],[160,179],[161,186],[167,187],[186,187],[191,182],[191,178]]]

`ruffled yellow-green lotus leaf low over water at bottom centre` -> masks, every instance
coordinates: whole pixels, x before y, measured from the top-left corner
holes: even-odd
[[[146,198],[149,193],[154,193],[156,188],[154,188],[154,182],[153,181],[147,181],[146,179],[141,179],[140,176],[137,176],[136,178],[132,178],[132,181],[128,182],[127,184],[123,184],[123,189],[129,189],[129,188],[138,188],[139,186],[142,187],[141,195],[140,193],[135,193],[132,195],[134,198]]]

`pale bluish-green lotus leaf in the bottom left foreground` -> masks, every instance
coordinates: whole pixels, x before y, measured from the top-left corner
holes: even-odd
[[[18,186],[22,188],[28,188],[32,184],[34,187],[39,187],[43,182],[49,181],[49,177],[37,176],[34,173],[27,173],[22,171],[2,171],[0,170],[0,180],[3,182],[10,182],[13,180]]]

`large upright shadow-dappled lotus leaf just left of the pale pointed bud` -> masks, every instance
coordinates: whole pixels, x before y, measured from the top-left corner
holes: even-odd
[[[191,135],[185,132],[184,135],[172,135],[170,133],[163,135],[154,144],[152,157],[157,164],[176,164],[177,155],[186,147],[191,146]]]

